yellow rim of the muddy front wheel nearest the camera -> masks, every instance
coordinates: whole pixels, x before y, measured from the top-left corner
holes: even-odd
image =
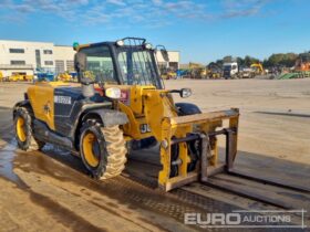
[[[97,143],[95,135],[93,133],[87,133],[83,137],[82,143],[83,143],[83,154],[86,162],[94,168],[97,167],[99,159],[94,152],[95,144]]]

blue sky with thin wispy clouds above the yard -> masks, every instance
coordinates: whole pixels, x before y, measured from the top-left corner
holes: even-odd
[[[0,0],[0,40],[71,45],[124,36],[182,63],[310,50],[309,0]]]

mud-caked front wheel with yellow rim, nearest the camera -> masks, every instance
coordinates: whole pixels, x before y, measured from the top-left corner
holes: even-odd
[[[123,131],[118,126],[102,127],[99,123],[86,122],[81,128],[80,154],[93,178],[108,179],[121,175],[127,161]]]

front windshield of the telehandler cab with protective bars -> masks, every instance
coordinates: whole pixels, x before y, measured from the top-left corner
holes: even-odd
[[[154,85],[162,88],[154,54],[149,50],[120,48],[117,61],[124,84]]]

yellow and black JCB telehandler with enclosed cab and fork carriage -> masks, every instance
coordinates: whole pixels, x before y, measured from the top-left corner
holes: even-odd
[[[16,104],[19,148],[41,149],[50,143],[79,155],[96,179],[121,175],[131,147],[159,145],[158,186],[173,188],[230,168],[237,152],[238,109],[202,113],[177,103],[165,89],[156,53],[144,39],[76,45],[74,65],[81,84],[38,82]],[[223,122],[228,125],[223,128]],[[226,162],[219,164],[217,136],[226,135]],[[135,146],[128,146],[130,144]],[[138,144],[138,146],[136,146]]]

